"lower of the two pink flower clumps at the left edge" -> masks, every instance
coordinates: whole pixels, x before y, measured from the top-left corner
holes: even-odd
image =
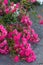
[[[0,53],[8,54],[8,52],[9,52],[8,43],[7,40],[4,40],[3,42],[0,43]]]

